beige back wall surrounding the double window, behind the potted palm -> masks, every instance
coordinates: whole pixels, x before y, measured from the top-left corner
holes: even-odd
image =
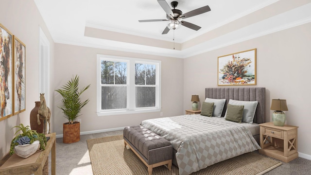
[[[160,112],[138,113],[128,115],[97,116],[96,114],[96,54],[127,56],[144,59],[161,60],[161,112],[163,116],[183,114],[183,67],[184,60],[180,58],[162,57],[138,53],[108,51],[66,44],[55,44],[55,70],[52,89],[60,88],[75,74],[80,76],[80,85],[91,84],[82,99],[90,102],[82,108],[80,131],[95,131],[140,124],[142,120],[158,118]],[[53,132],[63,134],[62,124],[66,118],[57,105],[60,105],[60,95],[54,92]],[[59,99],[59,100],[57,100]]]

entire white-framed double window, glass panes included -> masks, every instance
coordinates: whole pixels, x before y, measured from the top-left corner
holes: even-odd
[[[160,111],[161,62],[97,54],[97,114]]]

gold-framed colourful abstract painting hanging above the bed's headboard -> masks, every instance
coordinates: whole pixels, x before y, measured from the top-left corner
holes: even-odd
[[[256,85],[256,49],[218,57],[218,86]]]

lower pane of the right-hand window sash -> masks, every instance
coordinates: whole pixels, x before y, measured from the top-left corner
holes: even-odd
[[[155,106],[155,87],[136,87],[136,107]]]

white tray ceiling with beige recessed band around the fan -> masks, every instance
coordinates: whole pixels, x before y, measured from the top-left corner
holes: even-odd
[[[166,18],[156,0],[35,0],[35,3],[56,43],[179,58],[311,21],[311,0],[177,1],[176,9],[183,13],[209,5],[210,12],[185,19],[202,27],[200,30],[181,26],[161,35],[167,21],[138,22]]]

